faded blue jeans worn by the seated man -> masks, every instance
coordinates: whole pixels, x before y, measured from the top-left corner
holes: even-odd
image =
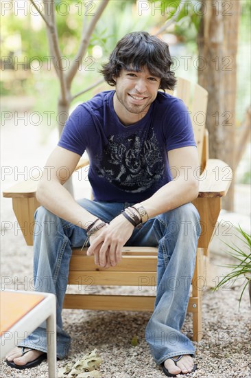
[[[78,203],[109,223],[132,203]],[[43,207],[35,214],[34,285],[36,291],[54,293],[57,298],[57,356],[69,352],[71,338],[62,329],[62,304],[67,289],[72,247],[82,247],[86,231],[52,214]],[[189,338],[180,332],[187,312],[193,277],[200,216],[191,203],[165,212],[134,230],[126,245],[158,246],[157,294],[154,313],[145,330],[147,343],[157,364],[169,357],[194,354]],[[20,346],[47,351],[45,323]]]

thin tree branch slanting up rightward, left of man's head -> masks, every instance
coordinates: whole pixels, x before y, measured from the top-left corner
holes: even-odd
[[[97,11],[95,12],[95,15],[93,16],[93,19],[91,20],[90,25],[88,25],[88,28],[85,32],[85,25],[83,25],[82,29],[82,36],[81,36],[81,43],[80,47],[77,51],[77,54],[73,60],[73,63],[71,65],[71,68],[69,69],[69,72],[67,74],[67,86],[70,87],[71,82],[77,72],[77,69],[79,68],[80,62],[82,61],[82,58],[84,57],[84,54],[86,53],[86,49],[88,47],[88,43],[91,38],[91,34],[93,33],[93,30],[95,28],[95,25],[97,21],[99,20],[102,12],[104,12],[104,9],[106,8],[106,5],[108,5],[109,0],[102,0],[101,4],[99,5],[99,8],[97,8]],[[86,21],[86,17],[84,17],[84,22]]]

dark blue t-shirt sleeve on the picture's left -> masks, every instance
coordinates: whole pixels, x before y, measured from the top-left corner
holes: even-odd
[[[58,146],[82,156],[88,144],[88,129],[92,125],[90,113],[79,105],[64,125]]]

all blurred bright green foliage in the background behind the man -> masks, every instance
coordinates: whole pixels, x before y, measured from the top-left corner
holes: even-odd
[[[95,1],[95,0],[94,0]],[[29,3],[29,0],[27,0]],[[65,12],[65,5],[69,12]],[[91,3],[86,0],[86,3]],[[86,13],[86,21],[91,21],[91,15],[88,8],[85,8],[84,1],[80,0],[55,0],[56,23],[58,27],[58,38],[62,55],[72,60],[77,52],[80,44],[80,34],[82,31],[82,22],[84,13]],[[98,1],[97,1],[98,3]],[[143,3],[147,4],[147,1]],[[155,5],[155,8],[154,8]],[[97,5],[96,5],[97,6]],[[148,6],[148,5],[147,5]],[[249,20],[251,2],[250,0],[241,1],[241,23],[240,23],[240,41],[249,41],[250,31]],[[160,8],[158,8],[160,7]],[[154,11],[155,9],[155,11]],[[87,56],[93,55],[93,47],[99,45],[102,49],[103,56],[95,58],[95,71],[77,72],[77,76],[73,81],[72,93],[81,91],[84,87],[91,85],[100,76],[98,69],[101,63],[106,60],[115,44],[119,39],[128,32],[136,30],[147,30],[154,34],[158,27],[171,19],[176,12],[179,12],[176,24],[172,24],[167,33],[176,34],[179,41],[184,43],[186,51],[189,55],[196,56],[198,54],[196,47],[197,30],[200,25],[200,1],[198,0],[152,0],[149,1],[149,9],[141,15],[139,12],[139,2],[136,0],[110,0],[108,6],[104,10],[101,19],[99,19],[95,32],[91,37],[91,43],[88,46]],[[243,49],[246,50],[246,45]],[[28,66],[34,57],[43,61],[44,68],[37,72],[30,72],[29,78],[19,80],[19,85],[15,82],[1,82],[1,93],[4,96],[12,94],[12,96],[22,96],[27,94],[36,98],[36,110],[46,111],[48,109],[56,109],[56,103],[59,92],[58,79],[53,74],[53,69],[47,69],[47,61],[49,54],[49,46],[47,42],[47,33],[44,21],[40,15],[33,16],[30,12],[25,17],[16,16],[14,12],[5,14],[4,22],[1,25],[1,56],[7,57],[13,55],[17,63],[27,60]],[[176,54],[176,53],[175,53]],[[243,116],[243,106],[248,106],[249,86],[246,85],[250,80],[249,55],[245,52],[239,52],[240,62],[238,98],[237,98],[237,117]],[[184,55],[184,54],[183,54]],[[242,57],[245,56],[245,59]],[[85,57],[86,58],[86,57]],[[84,59],[85,59],[84,58]],[[86,68],[90,62],[83,61]],[[18,67],[21,70],[21,65]],[[176,71],[177,75],[192,77],[196,72]],[[192,77],[193,78],[193,77]],[[241,79],[241,80],[240,80]],[[193,78],[196,80],[196,78]],[[49,88],[49,91],[47,90]],[[45,94],[46,93],[46,96]],[[90,98],[93,92],[85,93],[81,98],[77,98],[75,102],[84,101]],[[74,103],[74,102],[73,102]],[[240,104],[240,105],[238,105]]]

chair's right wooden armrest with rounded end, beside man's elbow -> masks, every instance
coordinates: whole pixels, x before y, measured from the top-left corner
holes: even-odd
[[[232,181],[232,169],[219,159],[208,159],[200,175],[198,197],[224,197]]]

